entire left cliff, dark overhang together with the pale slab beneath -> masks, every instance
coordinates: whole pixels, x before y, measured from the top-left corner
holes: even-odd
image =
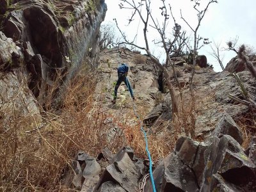
[[[61,97],[65,87],[60,79],[68,82],[84,58],[97,58],[97,35],[107,8],[104,1],[86,0],[0,4],[0,112],[5,124],[8,114],[40,115],[36,100],[44,106],[54,83],[63,88],[54,93]],[[95,61],[90,63],[97,67]],[[4,92],[6,88],[10,89]]]

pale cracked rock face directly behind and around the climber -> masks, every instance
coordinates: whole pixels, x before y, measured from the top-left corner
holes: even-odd
[[[141,63],[138,63],[140,60],[137,56],[142,58]],[[163,94],[159,91],[159,75],[161,74],[159,68],[147,56],[134,53],[124,47],[113,48],[100,52],[98,68],[100,76],[95,88],[95,100],[102,102],[103,110],[108,110],[114,116],[125,116],[133,108],[134,103],[124,83],[118,88],[116,105],[111,105],[117,80],[116,71],[120,63],[129,65],[127,78],[134,91],[138,111],[143,109],[144,113],[148,113],[156,104],[162,102]],[[144,108],[144,106],[147,107]],[[118,113],[121,108],[122,114]]]

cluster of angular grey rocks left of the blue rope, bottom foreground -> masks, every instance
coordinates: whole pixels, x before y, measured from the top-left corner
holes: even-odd
[[[145,173],[145,165],[141,159],[134,156],[133,150],[130,147],[121,148],[110,159],[102,154],[96,161],[88,154],[79,152],[76,161],[72,162],[72,169],[65,172],[62,183],[84,192],[136,191],[138,182]],[[106,161],[108,166],[99,177],[100,164]]]

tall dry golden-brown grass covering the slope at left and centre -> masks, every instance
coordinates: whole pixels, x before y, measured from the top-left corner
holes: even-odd
[[[48,111],[42,111],[42,122],[35,120],[31,131],[23,126],[26,119],[10,112],[15,114],[10,129],[0,127],[0,191],[64,191],[63,170],[79,150],[96,157],[106,147],[115,153],[122,146],[131,145],[137,156],[147,158],[140,122],[129,121],[134,114],[131,112],[124,119],[102,112],[103,104],[93,99],[97,74],[81,74],[68,86],[61,108],[54,111],[51,100],[46,99]],[[53,86],[48,94],[55,94],[58,88]],[[106,124],[107,119],[111,119],[111,125]],[[113,125],[120,132],[109,140]],[[154,161],[171,150],[167,138],[164,143],[163,138],[148,136],[148,142]]]

